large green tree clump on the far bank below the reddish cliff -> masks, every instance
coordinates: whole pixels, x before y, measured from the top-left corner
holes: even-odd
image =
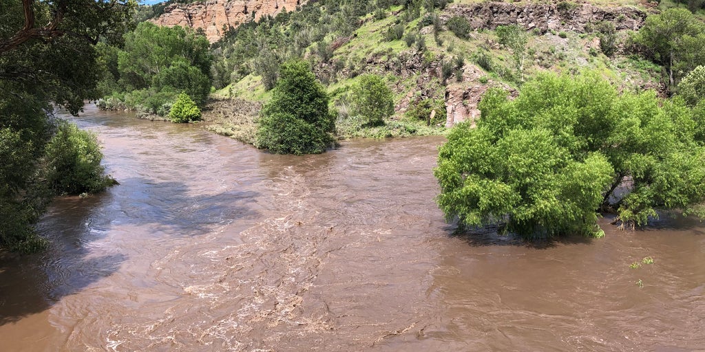
[[[166,115],[180,92],[197,104],[211,89],[212,55],[208,40],[182,27],[149,22],[125,34],[125,46],[101,45],[106,76],[101,82],[103,108],[132,108]]]

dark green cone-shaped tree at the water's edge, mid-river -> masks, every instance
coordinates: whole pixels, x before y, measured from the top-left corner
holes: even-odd
[[[335,130],[329,98],[308,63],[288,61],[259,116],[257,147],[272,153],[323,153]]]

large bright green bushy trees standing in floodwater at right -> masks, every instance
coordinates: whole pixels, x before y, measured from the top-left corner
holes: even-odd
[[[596,74],[546,74],[513,101],[489,91],[479,108],[477,128],[454,127],[439,151],[448,219],[599,236],[599,210],[622,225],[644,225],[657,209],[703,215],[705,149],[681,99],[619,94]]]

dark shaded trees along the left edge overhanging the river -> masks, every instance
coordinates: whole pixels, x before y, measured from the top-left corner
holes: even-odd
[[[78,113],[84,99],[98,98],[102,70],[94,44],[120,42],[134,6],[104,0],[0,2],[0,246],[31,251],[44,244],[32,225],[54,194],[45,181],[65,182],[48,167],[54,154],[47,146],[68,128],[49,117],[49,102]],[[65,146],[85,153],[75,161],[99,156],[97,146],[74,143],[80,141],[69,137]],[[98,190],[91,180],[75,182]]]

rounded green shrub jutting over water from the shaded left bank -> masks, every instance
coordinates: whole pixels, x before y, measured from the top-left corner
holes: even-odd
[[[100,165],[103,153],[95,134],[69,122],[47,144],[47,182],[56,194],[78,195],[104,191],[114,183]]]

